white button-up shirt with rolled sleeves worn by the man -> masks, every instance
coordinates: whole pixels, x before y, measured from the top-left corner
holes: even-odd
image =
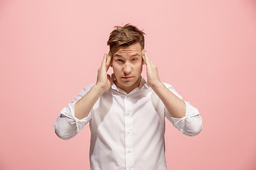
[[[91,170],[164,170],[166,169],[164,132],[165,117],[184,135],[194,136],[202,130],[198,109],[186,102],[186,116],[172,118],[164,103],[142,81],[129,94],[112,86],[97,100],[89,115],[82,120],[74,116],[74,106],[92,85],[86,86],[76,98],[60,111],[55,120],[55,133],[68,140],[90,122]],[[178,98],[173,86],[164,84]]]

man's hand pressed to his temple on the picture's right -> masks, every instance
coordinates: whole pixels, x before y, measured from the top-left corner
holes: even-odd
[[[146,77],[147,77],[147,84],[154,89],[157,85],[161,84],[159,80],[159,75],[157,72],[156,65],[149,60],[149,57],[146,54],[146,50],[142,50],[142,58],[146,64]]]

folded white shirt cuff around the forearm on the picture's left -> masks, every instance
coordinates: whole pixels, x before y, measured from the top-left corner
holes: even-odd
[[[91,116],[91,112],[90,112],[89,115],[87,115],[87,117],[85,117],[81,120],[79,120],[78,118],[75,118],[75,103],[76,102],[77,101],[73,101],[72,103],[69,103],[66,108],[63,108],[63,110],[60,111],[60,114],[67,116],[69,118],[68,121],[70,123],[75,121],[75,124],[77,126],[77,133],[78,133],[90,121],[92,116]]]

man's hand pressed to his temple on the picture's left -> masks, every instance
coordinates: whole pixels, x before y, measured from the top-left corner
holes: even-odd
[[[110,52],[104,54],[102,64],[97,71],[97,82],[96,86],[99,86],[103,91],[110,89],[111,81],[110,74],[107,74],[107,70],[110,68],[111,56]]]

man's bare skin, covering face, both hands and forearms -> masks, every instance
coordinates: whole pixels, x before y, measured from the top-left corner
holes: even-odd
[[[75,118],[81,120],[87,117],[97,99],[110,89],[110,75],[107,74],[110,67],[116,77],[114,84],[129,94],[139,86],[143,64],[146,64],[147,84],[163,101],[172,117],[183,118],[186,115],[186,104],[161,83],[156,65],[149,59],[146,50],[142,50],[139,42],[121,47],[114,54],[109,52],[104,55],[95,86],[75,103]]]

